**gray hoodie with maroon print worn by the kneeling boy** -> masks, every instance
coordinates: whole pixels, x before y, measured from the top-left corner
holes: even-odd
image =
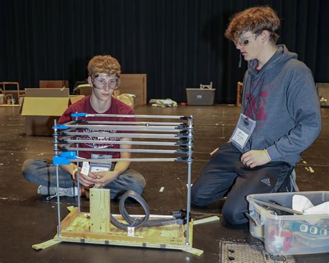
[[[257,122],[242,153],[267,149],[272,162],[296,165],[321,132],[312,72],[285,45],[260,71],[257,65],[249,61],[244,76],[242,113]]]

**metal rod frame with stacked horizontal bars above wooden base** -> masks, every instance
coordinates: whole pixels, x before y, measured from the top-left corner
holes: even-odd
[[[113,162],[119,161],[130,161],[130,162],[187,162],[187,228],[186,228],[186,239],[185,244],[189,246],[189,213],[191,210],[191,177],[192,177],[192,153],[193,153],[193,117],[185,117],[185,116],[167,116],[167,115],[123,115],[123,114],[86,114],[85,117],[121,117],[121,118],[154,118],[154,119],[182,119],[187,121],[186,123],[172,123],[172,122],[132,122],[132,121],[85,121],[83,124],[78,124],[78,117],[76,117],[76,121],[69,121],[67,124],[63,124],[68,127],[67,132],[58,131],[56,128],[56,120],[54,121],[54,151],[55,155],[58,156],[58,144],[76,144],[76,147],[67,147],[65,151],[90,151],[90,149],[79,148],[79,143],[92,142],[99,144],[137,144],[137,145],[153,145],[153,146],[184,146],[185,149],[180,154],[185,154],[187,157],[182,158],[111,158],[111,159],[69,159],[70,162],[76,162],[77,165],[79,162],[108,162],[109,160]],[[83,117],[84,118],[84,117]],[[75,123],[75,124],[74,124]],[[96,125],[101,123],[102,125]],[[106,126],[103,124],[144,124],[143,126]],[[90,125],[95,124],[95,125]],[[181,127],[187,125],[185,127]],[[168,127],[169,126],[169,127]],[[179,126],[179,128],[178,128]],[[94,128],[101,130],[141,130],[148,132],[174,132],[176,134],[152,134],[152,133],[77,133],[72,130],[77,128]],[[183,132],[183,133],[182,133]],[[69,136],[67,136],[69,135]],[[75,135],[80,136],[97,136],[97,137],[119,137],[119,138],[156,138],[156,139],[181,139],[185,138],[185,141],[178,142],[127,142],[127,141],[97,141],[97,140],[83,140],[83,139],[71,139],[71,137]],[[62,139],[58,139],[58,137],[64,137]],[[122,150],[122,151],[121,151]],[[102,151],[102,149],[93,149],[93,151]],[[112,151],[112,150],[111,150]],[[114,149],[113,151],[121,151],[121,152],[139,152],[139,153],[178,153],[177,150],[151,150],[151,149]],[[80,175],[79,170],[77,173],[78,185],[80,186]],[[57,183],[57,192],[59,190],[59,182],[58,182],[58,164],[56,165],[56,183]],[[80,187],[78,187],[80,188]],[[78,212],[81,212],[81,201],[80,201],[80,191],[78,191]],[[58,236],[61,235],[61,225],[60,225],[60,196],[57,196],[57,207],[58,207]]]

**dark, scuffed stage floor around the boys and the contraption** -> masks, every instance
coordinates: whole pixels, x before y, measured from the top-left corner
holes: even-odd
[[[329,190],[329,108],[322,108],[323,128],[317,142],[303,153],[296,167],[301,191]],[[173,114],[194,116],[194,162],[192,181],[209,160],[209,153],[230,137],[239,108],[230,105],[205,107],[180,106],[153,108],[139,106],[136,114]],[[126,248],[92,244],[61,243],[43,251],[33,244],[52,239],[56,234],[56,200],[47,201],[36,194],[36,185],[22,178],[21,167],[26,158],[52,158],[51,137],[26,137],[24,117],[18,108],[0,107],[0,262],[220,262],[220,241],[258,241],[251,237],[248,226],[233,227],[221,219],[194,226],[194,248],[204,251],[200,257],[183,251],[152,248]],[[183,163],[133,163],[132,167],[147,180],[143,194],[152,214],[169,214],[185,207],[186,165]],[[309,169],[312,167],[314,173]],[[165,187],[159,192],[160,187]],[[83,199],[83,198],[82,198]],[[61,198],[62,217],[66,207],[76,205],[75,198]],[[82,200],[83,207],[88,202]],[[130,210],[138,212],[133,204]],[[221,203],[200,210],[192,209],[194,219],[221,216]],[[111,209],[116,210],[117,204]],[[329,262],[329,254],[298,255],[296,262]],[[233,261],[234,262],[234,261]]]

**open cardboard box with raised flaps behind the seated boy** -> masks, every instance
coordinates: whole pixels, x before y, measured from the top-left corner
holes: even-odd
[[[69,89],[26,89],[20,112],[26,118],[26,135],[51,136],[54,119],[84,96],[69,96]]]

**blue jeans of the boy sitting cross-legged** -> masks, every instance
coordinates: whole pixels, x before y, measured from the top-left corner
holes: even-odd
[[[56,165],[51,160],[28,159],[23,164],[22,173],[24,178],[30,183],[56,187]],[[60,167],[58,167],[58,183],[61,188],[77,186],[71,174]],[[113,199],[129,190],[142,194],[145,185],[146,182],[142,174],[133,169],[127,169],[104,188],[111,190],[111,199]]]

